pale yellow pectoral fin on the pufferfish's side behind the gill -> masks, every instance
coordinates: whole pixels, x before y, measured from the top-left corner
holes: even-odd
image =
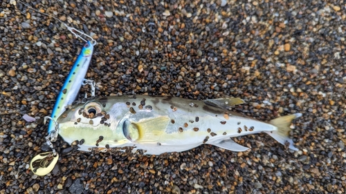
[[[139,122],[132,122],[131,128],[138,130],[138,138],[135,142],[156,142],[165,133],[169,117],[155,117],[152,119],[142,119]]]

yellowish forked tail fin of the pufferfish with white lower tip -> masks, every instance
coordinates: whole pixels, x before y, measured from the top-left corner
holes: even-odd
[[[296,119],[298,117],[301,117],[302,113],[295,113],[293,115],[287,115],[284,117],[279,117],[277,119],[273,119],[270,121],[270,124],[277,127],[277,130],[268,131],[268,135],[271,135],[277,142],[280,142],[280,144],[284,145],[286,142],[289,142],[289,148],[293,151],[298,151],[298,148],[295,148],[293,146],[292,139],[289,138],[289,131],[291,128],[289,127],[291,125],[291,122],[293,119]]]

